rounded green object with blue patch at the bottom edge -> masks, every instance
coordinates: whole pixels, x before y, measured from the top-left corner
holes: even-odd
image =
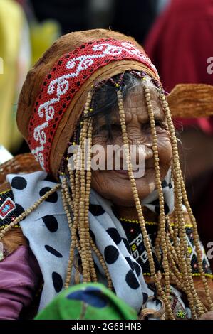
[[[56,296],[36,320],[137,320],[137,312],[103,284],[78,284]]]

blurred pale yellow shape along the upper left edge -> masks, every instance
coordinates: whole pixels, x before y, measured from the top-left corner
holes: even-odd
[[[16,127],[16,101],[21,77],[24,80],[29,65],[27,53],[21,48],[26,41],[25,29],[21,6],[12,0],[0,0],[0,144],[9,150],[22,140]]]

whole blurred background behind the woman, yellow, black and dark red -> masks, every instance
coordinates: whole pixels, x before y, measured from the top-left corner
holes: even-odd
[[[0,145],[13,155],[28,151],[16,129],[26,72],[58,36],[90,28],[135,37],[167,92],[178,83],[213,85],[207,71],[213,57],[213,0],[0,0]],[[175,125],[189,200],[208,250],[213,242],[213,120],[175,119]]]

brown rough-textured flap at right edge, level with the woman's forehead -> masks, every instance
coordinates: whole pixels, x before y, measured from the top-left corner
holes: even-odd
[[[197,118],[213,115],[213,86],[180,84],[167,96],[172,118]]]

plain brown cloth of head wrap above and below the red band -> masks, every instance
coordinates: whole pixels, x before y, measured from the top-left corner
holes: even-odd
[[[65,36],[61,36],[61,38],[58,38],[51,48],[44,53],[36,65],[34,65],[34,67],[28,72],[26,81],[24,82],[21,90],[17,112],[17,123],[19,130],[23,134],[26,141],[28,141],[29,138],[28,126],[33,113],[36,98],[41,91],[43,78],[51,72],[53,65],[59,58],[61,58],[62,55],[70,53],[80,45],[83,45],[83,43],[88,43],[102,38],[115,38],[115,40],[118,41],[131,42],[136,46],[136,48],[145,54],[143,48],[133,38],[104,29],[68,33]],[[71,139],[76,123],[78,122],[80,114],[83,111],[85,99],[88,95],[88,91],[91,89],[91,85],[93,85],[94,82],[108,79],[109,77],[113,77],[113,75],[125,72],[126,70],[144,70],[148,75],[154,77],[156,80],[158,79],[150,68],[147,68],[147,66],[136,60],[115,60],[101,68],[98,68],[98,70],[96,70],[88,78],[88,80],[80,86],[76,95],[74,95],[73,99],[71,99],[71,102],[56,129],[56,134],[51,142],[49,161],[50,170],[53,175],[57,175],[61,158],[63,157],[63,153],[66,151],[67,143]]]

